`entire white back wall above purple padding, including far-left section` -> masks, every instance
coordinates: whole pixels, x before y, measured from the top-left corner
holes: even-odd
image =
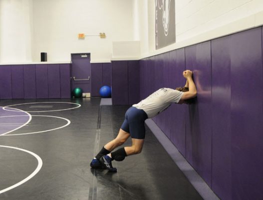
[[[138,40],[134,0],[0,0],[0,63],[70,61],[90,52],[110,61],[113,41]],[[135,20],[134,20],[135,19]],[[78,33],[98,35],[78,39]]]

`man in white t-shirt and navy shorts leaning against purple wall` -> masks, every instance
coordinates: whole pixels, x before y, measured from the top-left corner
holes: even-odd
[[[183,71],[183,76],[186,78],[184,87],[160,88],[139,103],[132,105],[125,113],[125,119],[117,137],[102,147],[92,159],[91,168],[106,168],[111,172],[117,172],[117,168],[112,166],[112,160],[122,161],[128,155],[140,153],[145,138],[144,121],[167,109],[172,103],[189,104],[197,96],[192,75],[191,70],[185,70]],[[111,152],[122,145],[130,136],[132,138],[131,146],[121,147]]]

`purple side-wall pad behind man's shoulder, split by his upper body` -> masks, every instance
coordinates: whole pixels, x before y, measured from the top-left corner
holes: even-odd
[[[181,48],[170,53],[170,59],[172,60],[172,72],[171,82],[172,88],[184,86],[186,79],[183,77],[183,71],[185,70],[185,49]],[[171,141],[175,144],[178,150],[185,156],[186,148],[186,110],[188,105],[186,104],[172,104],[169,111],[171,112]]]

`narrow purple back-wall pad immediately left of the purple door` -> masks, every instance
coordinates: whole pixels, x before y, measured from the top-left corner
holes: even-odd
[[[61,98],[70,98],[70,64],[59,64],[59,69]]]

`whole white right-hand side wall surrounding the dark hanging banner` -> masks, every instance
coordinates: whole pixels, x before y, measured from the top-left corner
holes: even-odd
[[[175,0],[176,43],[155,50],[155,0],[144,1],[148,1],[149,40],[141,37],[141,45],[148,44],[149,51],[142,51],[142,57],[263,24],[263,0]]]

